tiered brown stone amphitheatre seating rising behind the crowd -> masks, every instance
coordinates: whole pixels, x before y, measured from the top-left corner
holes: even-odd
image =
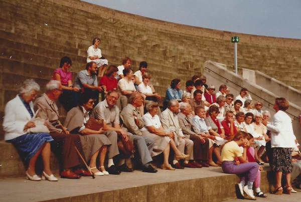
[[[109,64],[118,66],[127,56],[136,71],[140,61],[147,61],[147,71],[152,75],[150,82],[163,96],[173,78],[180,78],[185,86],[185,81],[193,75],[204,74],[204,63],[208,60],[223,63],[233,71],[232,36],[240,37],[240,75],[243,68],[258,70],[301,89],[301,40],[179,25],[77,0],[0,0],[0,27],[1,125],[6,103],[16,96],[25,79],[34,78],[43,93],[63,56],[72,59],[74,78],[85,67],[87,48],[94,37],[101,38],[100,49]],[[218,77],[216,80],[209,77],[211,82],[221,82]],[[60,108],[60,114],[64,119],[64,109]],[[2,127],[0,140],[4,140]],[[1,141],[0,150],[4,151],[0,164],[7,165],[0,167],[0,178],[24,176],[24,166],[13,145]],[[51,164],[57,174],[58,164],[53,155]],[[268,183],[264,189],[269,189]]]

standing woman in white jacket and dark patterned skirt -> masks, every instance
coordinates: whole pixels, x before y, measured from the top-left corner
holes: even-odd
[[[263,120],[262,124],[266,129],[271,131],[271,147],[272,147],[272,170],[276,172],[276,188],[271,193],[290,194],[290,175],[291,175],[291,151],[295,147],[294,134],[292,131],[291,119],[284,112],[289,107],[287,100],[283,97],[278,97],[275,100],[273,109],[276,114],[273,116],[271,124],[267,120]],[[286,184],[281,187],[282,172],[285,173]]]

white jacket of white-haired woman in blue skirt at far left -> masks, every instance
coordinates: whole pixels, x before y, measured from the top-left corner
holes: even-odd
[[[29,104],[33,114],[33,102]],[[10,100],[5,107],[5,115],[3,120],[3,130],[5,131],[5,140],[11,140],[24,135],[26,132],[23,130],[24,126],[31,120],[31,116],[24,104],[22,103],[19,95]]]

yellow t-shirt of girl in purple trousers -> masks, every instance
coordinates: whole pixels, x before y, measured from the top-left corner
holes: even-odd
[[[231,141],[225,144],[221,155],[222,162],[234,161],[236,157],[240,157],[240,156],[242,156],[241,150],[236,142]]]

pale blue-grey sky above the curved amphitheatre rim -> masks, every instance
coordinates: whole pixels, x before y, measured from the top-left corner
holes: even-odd
[[[301,39],[300,0],[85,0],[85,2],[185,25]]]

